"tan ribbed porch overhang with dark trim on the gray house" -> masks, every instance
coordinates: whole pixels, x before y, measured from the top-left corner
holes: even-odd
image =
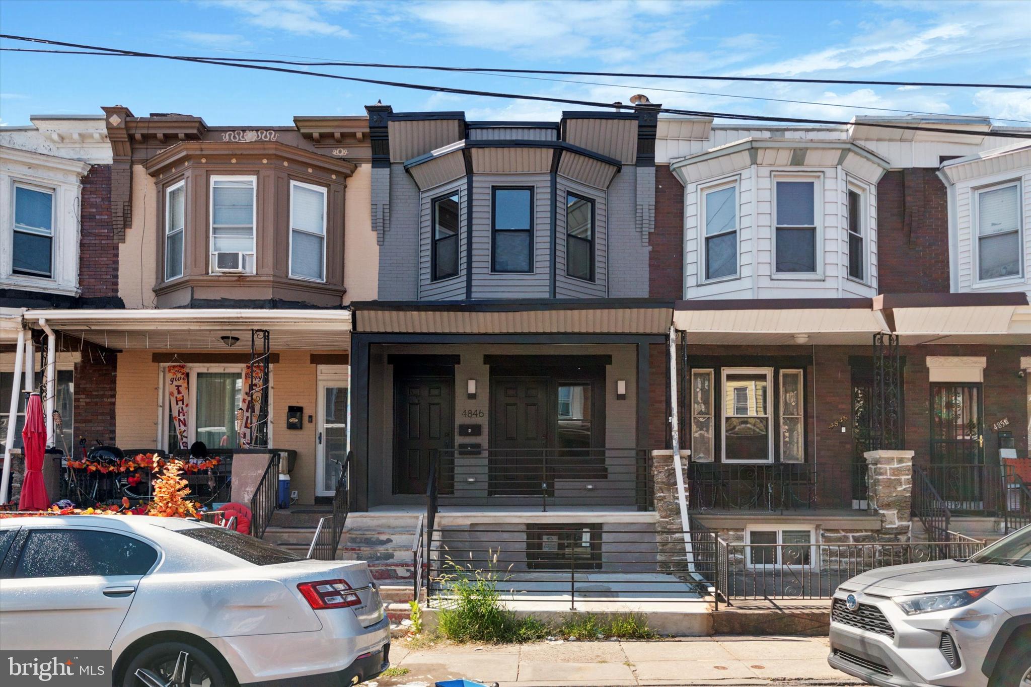
[[[354,331],[378,334],[648,334],[669,332],[673,302],[657,299],[367,301]]]

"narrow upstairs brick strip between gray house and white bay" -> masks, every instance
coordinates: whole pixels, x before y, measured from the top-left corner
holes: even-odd
[[[648,239],[648,296],[684,298],[684,184],[655,168],[655,231]]]

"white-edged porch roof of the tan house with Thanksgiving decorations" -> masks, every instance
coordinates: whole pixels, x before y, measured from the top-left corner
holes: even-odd
[[[45,321],[54,331],[118,350],[226,350],[224,336],[250,349],[250,330],[268,330],[272,350],[345,349],[347,310],[236,308],[147,310],[27,310],[26,323]]]

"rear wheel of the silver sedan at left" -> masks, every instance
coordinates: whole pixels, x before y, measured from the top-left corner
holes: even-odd
[[[126,666],[123,687],[231,687],[235,683],[212,653],[185,642],[155,644]]]

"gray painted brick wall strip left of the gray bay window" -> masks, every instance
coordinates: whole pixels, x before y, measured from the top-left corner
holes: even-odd
[[[379,246],[379,298],[419,298],[419,187],[404,166],[390,167],[390,226]]]

